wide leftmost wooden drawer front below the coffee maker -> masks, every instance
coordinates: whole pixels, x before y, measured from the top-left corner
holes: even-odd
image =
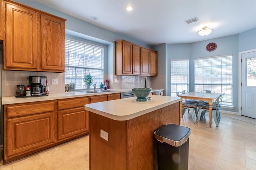
[[[38,102],[36,104],[34,102],[29,104],[21,103],[13,105],[4,105],[4,109],[7,112],[7,118],[33,115],[38,113],[54,111],[54,101]]]

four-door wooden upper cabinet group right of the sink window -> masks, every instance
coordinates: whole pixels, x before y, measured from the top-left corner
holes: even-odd
[[[125,40],[117,40],[115,45],[116,75],[157,76],[157,51]]]

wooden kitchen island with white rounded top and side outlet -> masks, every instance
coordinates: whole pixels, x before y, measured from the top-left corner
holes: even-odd
[[[154,130],[180,125],[179,97],[150,95],[85,105],[90,113],[90,169],[157,169]]]

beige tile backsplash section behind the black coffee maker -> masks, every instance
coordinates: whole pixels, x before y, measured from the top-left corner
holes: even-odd
[[[2,70],[2,97],[15,96],[16,86],[27,86],[32,75],[46,76],[50,93],[64,93],[65,73]],[[51,79],[58,79],[58,85],[51,85]]]

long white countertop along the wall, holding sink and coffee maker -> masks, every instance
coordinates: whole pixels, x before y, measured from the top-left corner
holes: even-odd
[[[100,91],[99,89],[96,89],[96,90]],[[2,97],[2,105],[122,93],[122,92],[132,91],[132,88],[130,88],[130,89],[109,89],[109,90],[116,90],[116,91],[109,91],[109,92],[102,92],[102,93],[84,93],[86,91],[86,90],[84,90],[84,91],[69,91],[69,92],[64,92],[64,93],[50,93],[49,96],[41,96],[41,97],[22,97],[22,98],[16,98],[15,96]],[[164,89],[152,89],[152,92],[159,91],[159,90],[164,90]]]

